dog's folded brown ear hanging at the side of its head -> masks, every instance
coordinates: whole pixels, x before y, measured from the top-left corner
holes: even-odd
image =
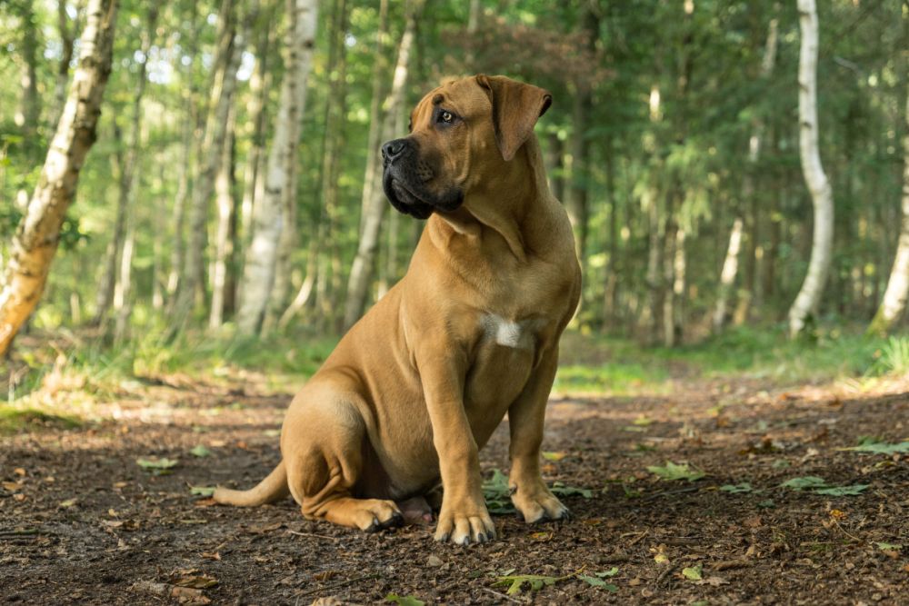
[[[533,134],[537,118],[549,109],[553,95],[538,86],[503,75],[477,75],[476,84],[483,88],[493,104],[495,143],[508,162]]]

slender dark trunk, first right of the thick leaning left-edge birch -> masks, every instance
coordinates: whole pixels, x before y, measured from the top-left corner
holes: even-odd
[[[139,64],[139,71],[136,75],[135,94],[133,95],[133,121],[130,126],[129,143],[126,147],[126,153],[122,154],[122,159],[117,163],[120,170],[119,197],[117,198],[114,232],[111,235],[111,242],[107,245],[104,273],[101,276],[97,298],[95,299],[95,318],[92,321],[95,326],[105,322],[111,303],[114,301],[117,274],[123,275],[120,260],[123,256],[127,216],[131,213],[130,206],[135,204],[133,200],[135,197],[134,174],[136,158],[139,154],[139,142],[142,139],[142,97],[145,94],[148,53],[152,43],[155,41],[157,20],[158,5],[153,4],[148,9],[145,32],[139,44],[139,54],[142,55],[143,59],[142,63]],[[114,123],[114,129],[115,140],[119,142],[122,137],[116,122]]]

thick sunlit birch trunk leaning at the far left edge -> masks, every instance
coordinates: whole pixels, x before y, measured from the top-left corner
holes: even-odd
[[[6,263],[0,291],[0,356],[9,349],[44,291],[60,226],[73,201],[85,154],[95,143],[95,127],[111,70],[116,4],[115,0],[89,0],[73,85]]]

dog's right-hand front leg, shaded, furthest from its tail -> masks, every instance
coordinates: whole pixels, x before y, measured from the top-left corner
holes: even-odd
[[[524,391],[508,409],[511,443],[508,455],[511,473],[508,486],[512,503],[528,523],[541,520],[562,520],[569,516],[568,508],[555,498],[543,482],[540,473],[540,445],[543,443],[543,423],[546,401],[555,380],[558,350],[545,353],[534,369]]]

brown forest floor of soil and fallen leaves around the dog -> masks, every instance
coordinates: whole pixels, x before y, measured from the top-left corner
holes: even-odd
[[[677,366],[655,393],[557,390],[544,474],[574,518],[506,512],[504,422],[481,453],[499,538],[463,548],[430,526],[364,534],[305,521],[290,500],[206,498],[200,487],[251,486],[279,459],[290,393],[263,375],[166,373],[104,397],[48,377],[34,401],[81,419],[39,406],[0,433],[3,603],[906,603],[905,380],[781,385]],[[843,450],[860,443],[871,452]]]

